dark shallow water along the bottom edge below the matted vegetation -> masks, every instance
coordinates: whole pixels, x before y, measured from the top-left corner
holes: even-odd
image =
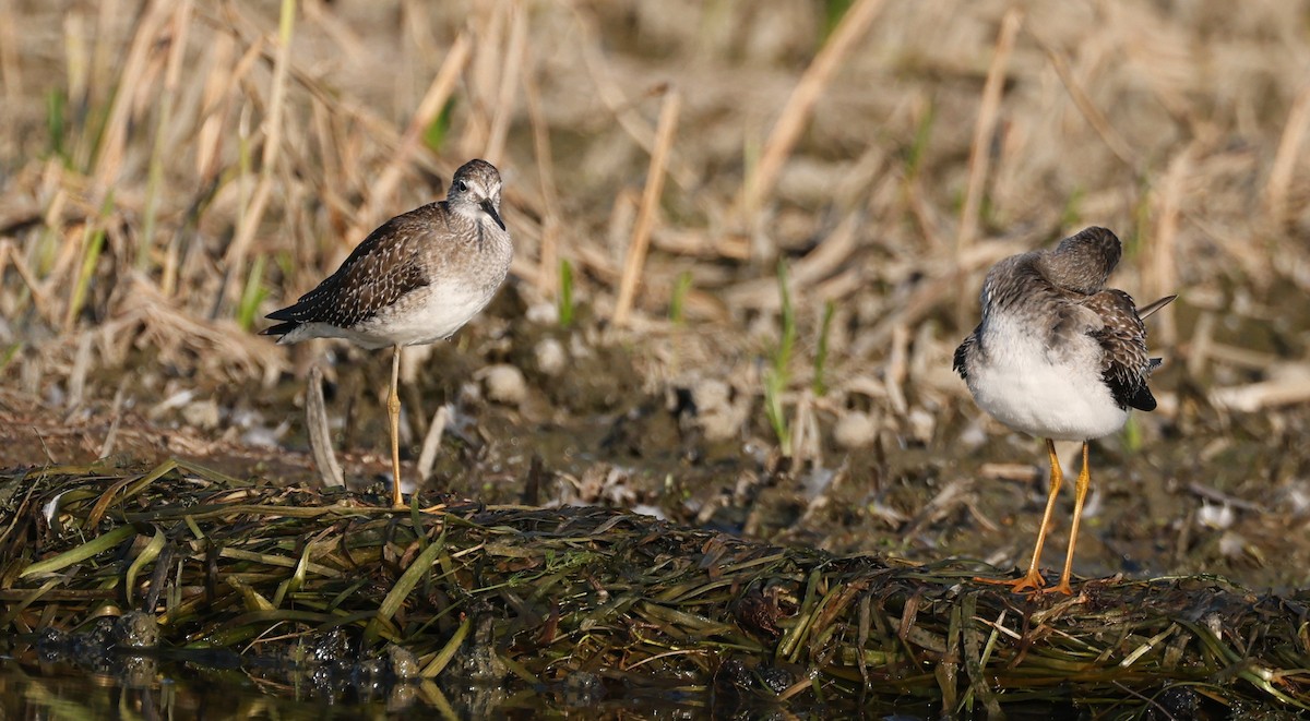
[[[140,658],[121,658],[138,665]],[[0,658],[0,718],[832,718],[859,713],[853,705],[766,704],[709,691],[633,690],[570,694],[566,690],[443,688],[436,683],[335,690],[255,679],[240,671],[194,663],[147,662],[132,674],[92,671],[66,662]],[[122,666],[121,666],[122,669]],[[1069,704],[1007,705],[1009,718],[1070,717]],[[896,721],[938,718],[939,703],[905,697],[872,699],[863,716]],[[982,709],[975,714],[984,718]],[[962,718],[971,718],[964,714]]]

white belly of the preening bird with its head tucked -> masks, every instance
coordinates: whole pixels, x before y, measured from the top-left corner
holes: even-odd
[[[969,370],[973,399],[1001,423],[1057,441],[1085,441],[1108,436],[1128,420],[1100,378],[1091,352],[1052,362],[1043,344],[1009,336],[988,343],[986,362]]]

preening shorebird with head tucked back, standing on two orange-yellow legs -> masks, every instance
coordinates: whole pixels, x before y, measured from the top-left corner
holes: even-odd
[[[1064,482],[1055,441],[1082,441],[1069,551],[1060,584],[1049,589],[1073,594],[1073,550],[1091,482],[1087,441],[1123,428],[1131,408],[1155,410],[1146,379],[1161,361],[1146,355],[1142,318],[1175,296],[1138,309],[1128,293],[1107,289],[1121,253],[1114,233],[1087,228],[1055,250],[1001,260],[982,284],[982,322],[955,349],[954,368],[977,404],[1010,428],[1045,438],[1051,457],[1051,492],[1028,573],[990,581],[1015,593],[1045,586],[1038,565]]]

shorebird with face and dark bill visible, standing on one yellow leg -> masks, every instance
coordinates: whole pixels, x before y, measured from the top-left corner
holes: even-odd
[[[504,281],[514,246],[500,220],[500,174],[483,160],[455,171],[445,200],[384,222],[350,258],[262,331],[278,343],[345,338],[394,348],[386,415],[392,432],[392,500],[401,496],[401,348],[451,338],[486,308]]]

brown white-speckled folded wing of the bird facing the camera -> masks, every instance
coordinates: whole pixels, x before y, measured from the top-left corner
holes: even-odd
[[[299,323],[329,323],[354,327],[396,304],[406,293],[427,285],[423,268],[414,262],[418,245],[430,232],[432,205],[393,217],[359,243],[331,276],[305,293],[295,305],[269,314],[288,321],[274,332],[290,332]],[[291,327],[286,327],[286,326]],[[286,328],[286,330],[282,330]]]

